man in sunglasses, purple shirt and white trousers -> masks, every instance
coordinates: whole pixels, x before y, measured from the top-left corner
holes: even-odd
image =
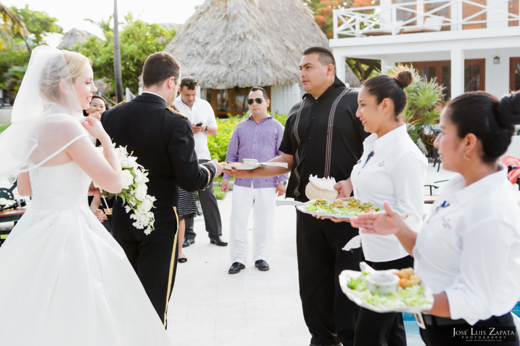
[[[226,161],[242,162],[256,159],[267,162],[281,155],[278,150],[283,136],[283,125],[267,114],[267,92],[253,87],[248,98],[251,116],[240,121],[229,140]],[[275,227],[276,197],[287,187],[287,174],[274,177],[237,178],[233,188],[229,243],[232,265],[229,273],[245,268],[248,257],[248,220],[253,208],[253,260],[258,270],[269,270],[267,259],[272,251]],[[222,191],[229,189],[229,175],[224,174]]]

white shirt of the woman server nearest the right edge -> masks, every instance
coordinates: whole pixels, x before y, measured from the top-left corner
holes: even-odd
[[[434,294],[446,292],[451,319],[471,325],[520,298],[520,207],[500,168],[466,187],[461,175],[452,178],[413,248],[421,280]]]

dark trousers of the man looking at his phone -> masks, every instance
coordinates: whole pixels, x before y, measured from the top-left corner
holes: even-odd
[[[199,160],[199,163],[205,163],[207,161],[209,160]],[[213,181],[211,181],[205,190],[197,191],[197,193],[199,194],[199,201],[202,207],[202,213],[204,214],[204,223],[206,224],[208,237],[213,239],[222,236],[222,220],[220,220],[217,197],[213,191]],[[197,233],[193,231],[193,215],[191,217],[186,216],[184,220],[186,223],[184,238],[194,239]]]

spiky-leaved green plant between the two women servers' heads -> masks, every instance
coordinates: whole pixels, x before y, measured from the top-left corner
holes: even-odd
[[[402,66],[396,66],[388,74],[396,74]],[[433,141],[435,135],[433,127],[439,121],[439,108],[442,106],[443,89],[436,78],[422,77],[413,66],[409,67],[413,73],[412,83],[405,88],[408,103],[405,107],[403,119],[407,124],[408,134],[424,155],[433,156]]]

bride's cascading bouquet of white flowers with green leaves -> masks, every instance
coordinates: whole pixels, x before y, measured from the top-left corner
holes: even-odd
[[[155,197],[147,194],[148,187],[146,183],[149,181],[147,170],[136,162],[137,158],[132,156],[133,152],[128,154],[126,147],[119,146],[115,148],[121,168],[123,169],[123,189],[119,193],[108,193],[103,191],[94,182],[94,186],[101,191],[101,196],[115,196],[123,199],[125,210],[129,213],[134,212],[130,218],[134,219],[134,227],[138,229],[145,229],[145,234],[150,234],[153,231],[153,223],[155,217],[151,212]]]

